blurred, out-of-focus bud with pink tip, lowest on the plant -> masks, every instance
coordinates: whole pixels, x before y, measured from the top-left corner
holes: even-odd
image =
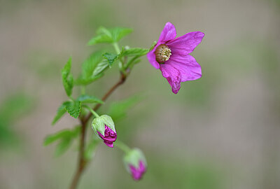
[[[125,155],[125,168],[132,175],[135,181],[139,181],[147,169],[147,162],[144,153],[138,148],[132,149]]]

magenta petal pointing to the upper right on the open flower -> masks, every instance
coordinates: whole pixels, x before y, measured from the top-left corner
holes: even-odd
[[[174,38],[166,44],[172,49],[172,55],[186,55],[193,52],[195,47],[202,41],[203,37],[204,34],[202,32],[193,31],[178,38]]]

